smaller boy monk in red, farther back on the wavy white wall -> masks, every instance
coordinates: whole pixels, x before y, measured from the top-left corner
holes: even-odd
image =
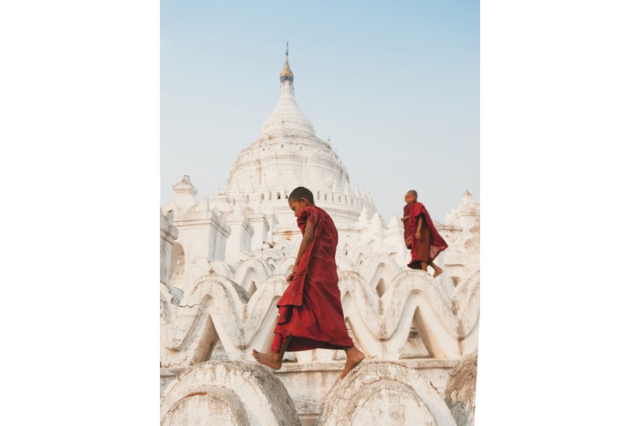
[[[441,251],[448,247],[444,238],[433,225],[429,212],[422,203],[418,202],[418,193],[413,189],[405,195],[405,209],[403,219],[405,226],[405,244],[411,250],[411,262],[407,265],[411,269],[427,270],[431,265],[434,270],[433,278],[442,274],[442,269],[433,260]]]

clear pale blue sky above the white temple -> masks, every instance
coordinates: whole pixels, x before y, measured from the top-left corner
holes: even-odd
[[[432,217],[479,194],[478,1],[161,3],[161,203],[189,175],[226,185],[279,97],[295,96],[388,221],[416,189]]]

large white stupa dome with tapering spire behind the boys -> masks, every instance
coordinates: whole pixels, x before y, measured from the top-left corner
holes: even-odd
[[[258,139],[235,159],[227,181],[229,198],[234,204],[271,206],[279,218],[291,216],[293,225],[286,198],[295,187],[309,188],[316,205],[335,216],[336,222],[355,223],[362,210],[374,214],[370,195],[352,191],[342,161],[327,141],[315,136],[311,121],[295,102],[288,57],[280,83],[280,97]]]

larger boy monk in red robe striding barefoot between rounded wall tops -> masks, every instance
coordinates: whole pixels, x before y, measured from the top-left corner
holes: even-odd
[[[290,284],[278,301],[272,352],[253,349],[253,358],[278,370],[286,351],[343,349],[347,362],[342,379],[364,359],[364,354],[354,347],[345,326],[336,267],[338,230],[329,214],[315,206],[309,189],[297,187],[288,201],[302,230],[302,242],[287,277]]]

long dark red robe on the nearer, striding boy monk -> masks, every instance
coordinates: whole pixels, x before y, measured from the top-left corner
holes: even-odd
[[[338,289],[336,247],[338,230],[320,207],[306,206],[297,217],[302,234],[309,218],[313,241],[300,258],[295,277],[278,301],[279,318],[271,350],[279,352],[292,336],[287,352],[352,347]]]

